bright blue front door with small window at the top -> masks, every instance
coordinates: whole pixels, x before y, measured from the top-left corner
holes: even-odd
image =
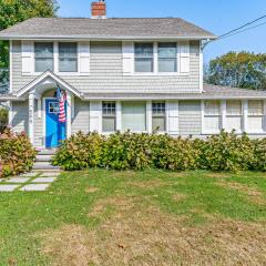
[[[61,141],[65,140],[66,135],[65,123],[59,122],[59,101],[57,99],[45,100],[45,146],[57,147],[60,145]]]

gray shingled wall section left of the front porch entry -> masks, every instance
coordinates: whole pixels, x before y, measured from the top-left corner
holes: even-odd
[[[25,131],[29,133],[29,103],[25,102],[12,102],[12,127],[13,131],[20,133]]]

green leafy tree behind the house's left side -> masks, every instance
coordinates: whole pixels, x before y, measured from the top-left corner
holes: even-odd
[[[54,17],[59,6],[55,0],[0,0],[0,30],[27,19]],[[0,41],[0,82],[8,79],[9,45]]]

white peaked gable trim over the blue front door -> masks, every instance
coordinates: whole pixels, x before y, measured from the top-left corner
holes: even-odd
[[[18,98],[23,98],[23,95],[27,94],[28,92],[30,92],[31,89],[33,89],[34,86],[40,85],[42,82],[44,82],[49,78],[51,80],[53,80],[58,85],[63,86],[64,89],[66,89],[70,92],[72,92],[75,96],[82,98],[82,93],[80,91],[78,91],[75,88],[71,86],[68,82],[65,82],[64,80],[62,80],[61,78],[59,78],[58,75],[55,75],[51,71],[43,72],[35,80],[33,80],[28,85],[25,85],[24,88],[19,90],[16,95]]]

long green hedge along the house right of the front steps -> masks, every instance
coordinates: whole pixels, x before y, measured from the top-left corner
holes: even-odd
[[[130,132],[106,137],[80,132],[62,143],[53,164],[68,171],[89,167],[265,171],[266,139],[250,140],[234,132],[221,132],[206,140]]]

